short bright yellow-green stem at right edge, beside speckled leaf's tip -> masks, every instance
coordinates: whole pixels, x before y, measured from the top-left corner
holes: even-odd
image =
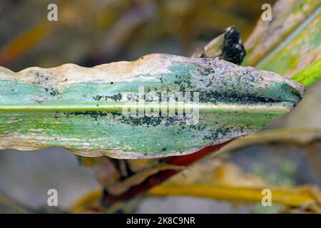
[[[292,76],[292,80],[310,86],[321,78],[321,58]]]

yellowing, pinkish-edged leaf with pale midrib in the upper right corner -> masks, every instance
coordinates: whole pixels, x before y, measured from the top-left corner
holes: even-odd
[[[245,42],[244,66],[255,66],[284,76],[293,76],[321,53],[321,2],[277,1],[273,20],[260,20]]]

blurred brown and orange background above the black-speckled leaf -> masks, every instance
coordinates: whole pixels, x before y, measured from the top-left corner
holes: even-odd
[[[54,2],[58,21],[47,21]],[[263,3],[273,1],[1,1],[0,63],[19,71],[95,66],[146,53],[190,56],[231,25],[248,37]]]

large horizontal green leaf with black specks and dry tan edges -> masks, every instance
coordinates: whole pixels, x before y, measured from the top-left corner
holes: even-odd
[[[289,112],[305,90],[277,73],[167,54],[93,68],[0,68],[0,88],[1,150],[59,146],[123,159],[186,155],[248,135]],[[150,91],[199,95],[159,108],[156,100],[141,103]],[[178,115],[186,105],[198,110],[196,123]],[[142,107],[166,114],[124,114]]]

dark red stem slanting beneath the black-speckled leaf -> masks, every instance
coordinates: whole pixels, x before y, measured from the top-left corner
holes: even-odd
[[[230,142],[230,141],[228,141]],[[190,155],[182,155],[182,156],[175,156],[169,157],[167,163],[170,165],[179,165],[179,166],[188,166],[200,160],[200,158],[204,157],[205,155],[210,154],[211,152],[215,152],[219,150],[221,147],[226,145],[228,142],[224,142],[218,145],[213,145],[209,147],[205,147],[198,152],[194,152]],[[103,195],[103,205],[108,206],[113,204],[114,202],[124,201],[128,199],[132,199],[133,197],[137,197],[138,195],[142,195],[152,187],[161,184],[161,182],[168,180],[168,178],[172,177],[173,175],[180,172],[180,170],[163,170],[158,172],[151,177],[148,177],[145,181],[141,182],[141,184],[131,187],[127,192],[124,192],[122,195],[114,196],[108,194],[108,192],[104,192]]]

